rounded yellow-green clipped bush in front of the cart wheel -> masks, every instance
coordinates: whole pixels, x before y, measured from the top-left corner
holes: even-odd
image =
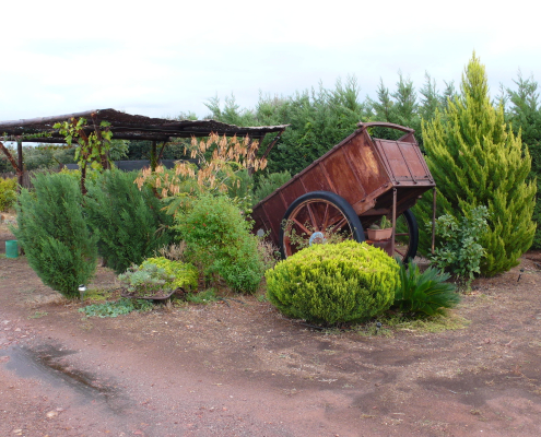
[[[313,245],[267,271],[269,300],[285,316],[321,324],[362,321],[387,310],[397,262],[366,243]]]

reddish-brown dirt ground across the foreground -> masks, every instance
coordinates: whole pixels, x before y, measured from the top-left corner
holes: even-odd
[[[475,281],[456,329],[363,335],[257,296],[86,318],[0,253],[0,435],[538,436],[540,268]]]

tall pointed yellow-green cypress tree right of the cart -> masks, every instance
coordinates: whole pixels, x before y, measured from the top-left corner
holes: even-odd
[[[485,68],[475,54],[460,91],[443,114],[423,122],[424,147],[437,184],[438,215],[468,215],[478,205],[489,208],[481,273],[491,276],[517,265],[531,246],[536,182],[527,181],[528,149],[520,133],[515,135],[505,123],[503,106],[492,106]],[[425,218],[426,203],[420,205]]]

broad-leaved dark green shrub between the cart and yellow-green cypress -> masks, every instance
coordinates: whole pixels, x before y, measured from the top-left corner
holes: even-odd
[[[487,231],[486,206],[478,206],[466,216],[456,218],[452,215],[442,215],[435,222],[438,247],[431,256],[431,261],[455,275],[469,287],[474,273],[481,273],[481,259],[485,250],[479,244]],[[432,228],[432,224],[427,224]]]

